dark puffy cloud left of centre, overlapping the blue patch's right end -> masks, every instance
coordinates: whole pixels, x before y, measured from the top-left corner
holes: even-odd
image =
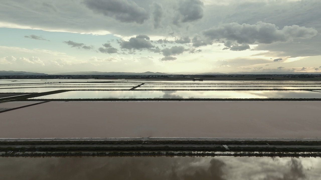
[[[155,46],[152,45],[149,39],[146,35],[138,35],[130,38],[129,41],[119,41],[119,44],[122,49],[151,49]]]

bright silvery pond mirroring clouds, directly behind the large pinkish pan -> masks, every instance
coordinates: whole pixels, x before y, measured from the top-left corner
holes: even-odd
[[[312,91],[69,91],[33,99],[126,99],[126,98],[321,98]]]

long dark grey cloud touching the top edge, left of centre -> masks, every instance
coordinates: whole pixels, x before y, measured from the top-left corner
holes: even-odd
[[[85,0],[86,6],[94,12],[113,17],[121,22],[142,24],[149,14],[132,0]]]

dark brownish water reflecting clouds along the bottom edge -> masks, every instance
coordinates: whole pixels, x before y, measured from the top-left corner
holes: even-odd
[[[1,157],[3,179],[320,180],[321,158]]]

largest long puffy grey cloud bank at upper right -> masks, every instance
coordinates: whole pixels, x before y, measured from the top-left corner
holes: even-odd
[[[274,24],[259,21],[253,25],[236,22],[222,24],[204,30],[202,34],[215,41],[225,39],[238,44],[271,44],[287,42],[296,38],[311,38],[317,35],[317,30],[297,25],[284,26],[283,29],[279,29]]]

